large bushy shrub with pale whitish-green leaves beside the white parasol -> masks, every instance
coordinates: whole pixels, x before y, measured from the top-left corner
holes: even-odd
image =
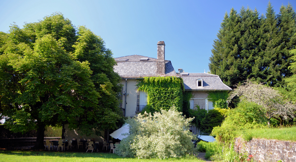
[[[193,134],[188,130],[192,118],[185,119],[176,109],[144,113],[126,120],[130,135],[123,139],[115,153],[124,157],[175,158],[193,151]]]

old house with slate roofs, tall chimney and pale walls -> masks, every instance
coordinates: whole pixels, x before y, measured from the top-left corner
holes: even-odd
[[[141,112],[143,107],[147,105],[147,95],[143,91],[138,91],[137,80],[143,77],[181,77],[184,82],[185,91],[191,91],[192,99],[190,99],[190,108],[194,109],[198,105],[201,109],[213,109],[213,102],[208,98],[208,91],[230,91],[232,90],[225,85],[218,75],[207,73],[187,73],[183,69],[175,72],[171,61],[165,60],[165,43],[157,42],[157,58],[149,58],[142,55],[130,55],[115,58],[117,65],[114,71],[122,78],[123,84],[120,107],[126,117],[133,117]],[[197,134],[199,130],[192,126],[192,133]],[[67,130],[66,139],[79,136],[77,132]],[[105,136],[109,132],[103,133]],[[73,137],[72,137],[73,136]],[[83,137],[83,136],[82,136]],[[89,137],[83,137],[89,138]],[[96,140],[99,137],[96,137]],[[101,138],[101,137],[100,137]],[[107,139],[105,137],[105,139]],[[102,139],[102,138],[101,138]]]

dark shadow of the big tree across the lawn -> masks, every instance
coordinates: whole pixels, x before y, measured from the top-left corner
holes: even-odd
[[[65,158],[112,158],[122,159],[123,157],[113,153],[78,153],[78,152],[50,152],[50,151],[20,151],[20,150],[0,150],[0,154],[18,156],[53,156]]]

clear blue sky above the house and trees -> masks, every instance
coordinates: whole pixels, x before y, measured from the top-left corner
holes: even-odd
[[[101,36],[113,57],[143,55],[157,58],[157,42],[165,42],[165,59],[176,71],[206,72],[213,40],[225,12],[242,6],[265,14],[269,0],[0,0],[0,31],[15,22],[33,23],[61,12],[73,25],[85,25]],[[281,5],[296,0],[270,0],[276,13]]]

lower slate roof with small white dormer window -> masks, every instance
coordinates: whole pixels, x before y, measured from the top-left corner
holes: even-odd
[[[181,76],[185,90],[232,90],[225,85],[218,75],[207,73],[189,73]],[[197,79],[202,79],[202,87],[197,87]]]

